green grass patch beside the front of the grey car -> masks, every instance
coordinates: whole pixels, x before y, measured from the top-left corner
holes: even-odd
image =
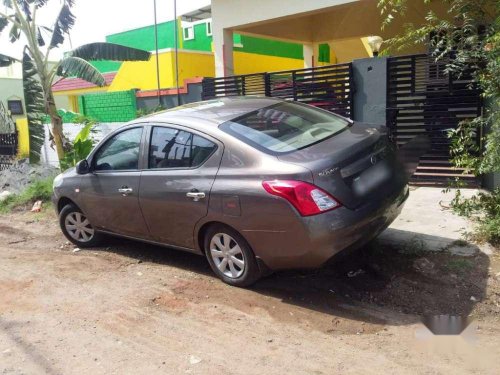
[[[0,213],[11,212],[18,207],[31,206],[36,201],[50,201],[53,181],[53,177],[38,180],[28,185],[23,192],[10,195],[0,202]]]

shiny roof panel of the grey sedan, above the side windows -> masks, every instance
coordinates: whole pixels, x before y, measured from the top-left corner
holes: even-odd
[[[224,97],[202,102],[185,104],[179,107],[157,112],[145,117],[150,121],[183,123],[196,119],[197,123],[218,126],[247,113],[254,112],[283,100],[258,96]]]

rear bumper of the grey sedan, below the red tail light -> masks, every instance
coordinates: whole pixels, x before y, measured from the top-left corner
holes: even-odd
[[[272,270],[321,267],[337,253],[361,247],[385,230],[401,212],[408,194],[405,185],[392,197],[357,210],[341,207],[301,218],[302,225],[292,231],[245,235],[257,257]]]

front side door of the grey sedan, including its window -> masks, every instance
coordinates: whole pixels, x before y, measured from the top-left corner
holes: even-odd
[[[94,153],[92,173],[82,176],[82,210],[96,228],[149,238],[139,206],[143,128],[129,128],[109,138]]]

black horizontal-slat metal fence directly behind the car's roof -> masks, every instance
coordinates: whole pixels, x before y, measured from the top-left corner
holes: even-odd
[[[224,96],[260,95],[292,99],[352,117],[352,76],[352,64],[348,63],[205,78],[202,97],[205,100]]]

